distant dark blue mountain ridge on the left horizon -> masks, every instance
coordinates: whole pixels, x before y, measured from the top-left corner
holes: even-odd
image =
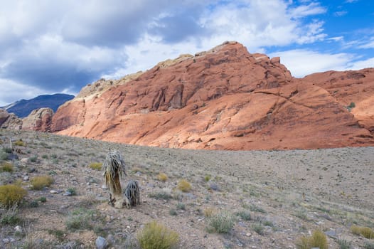
[[[49,107],[55,112],[60,105],[68,100],[72,100],[74,95],[56,93],[53,95],[39,95],[31,100],[18,100],[4,108],[7,112],[13,112],[17,117],[27,117],[33,110]]]

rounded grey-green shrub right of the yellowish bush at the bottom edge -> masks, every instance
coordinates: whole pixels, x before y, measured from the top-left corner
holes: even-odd
[[[235,218],[228,211],[220,211],[210,216],[208,232],[228,233],[233,229]]]

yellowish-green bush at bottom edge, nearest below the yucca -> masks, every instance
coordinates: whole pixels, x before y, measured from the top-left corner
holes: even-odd
[[[176,248],[179,235],[166,226],[151,221],[137,234],[137,239],[141,249],[169,249]]]

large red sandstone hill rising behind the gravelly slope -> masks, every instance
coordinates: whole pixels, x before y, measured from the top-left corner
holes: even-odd
[[[75,98],[53,116],[59,134],[189,149],[316,149],[374,145],[316,80],[240,43],[157,65],[101,95]]]

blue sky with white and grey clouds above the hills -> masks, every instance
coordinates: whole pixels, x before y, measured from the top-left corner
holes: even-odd
[[[0,0],[0,106],[239,41],[295,77],[374,67],[372,0]]]

